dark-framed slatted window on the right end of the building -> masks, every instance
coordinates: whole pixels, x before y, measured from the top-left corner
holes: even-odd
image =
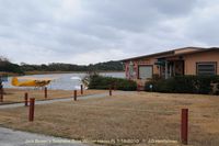
[[[217,63],[197,63],[197,75],[217,75]]]

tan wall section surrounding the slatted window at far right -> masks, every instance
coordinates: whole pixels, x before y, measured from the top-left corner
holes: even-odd
[[[219,50],[186,55],[184,60],[185,75],[196,75],[196,63],[198,61],[217,61],[217,74],[219,75]]]

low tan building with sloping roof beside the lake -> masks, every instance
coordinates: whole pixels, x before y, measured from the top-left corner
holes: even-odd
[[[155,76],[219,75],[219,48],[184,47],[122,60],[126,78],[138,85]]]

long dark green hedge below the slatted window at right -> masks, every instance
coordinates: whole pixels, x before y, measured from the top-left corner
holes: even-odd
[[[169,79],[151,80],[146,82],[146,91],[153,86],[153,91],[172,93],[201,93],[212,92],[211,82],[219,82],[219,76],[176,76]]]

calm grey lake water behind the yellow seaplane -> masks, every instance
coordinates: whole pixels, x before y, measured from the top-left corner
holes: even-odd
[[[102,72],[102,76],[125,78],[125,72]],[[53,75],[32,75],[24,77],[35,77],[35,78],[56,78],[48,85],[48,89],[62,89],[62,90],[73,90],[79,89],[81,81],[87,74],[53,74]],[[4,88],[23,88],[11,86],[11,78],[8,82],[3,82]],[[26,89],[26,88],[25,88]]]

